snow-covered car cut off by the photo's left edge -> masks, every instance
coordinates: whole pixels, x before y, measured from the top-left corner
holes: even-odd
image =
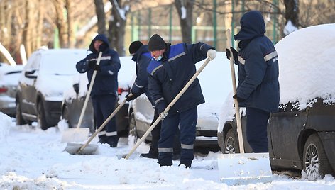
[[[23,65],[0,63],[0,111],[9,116],[16,113],[15,95],[22,69]]]

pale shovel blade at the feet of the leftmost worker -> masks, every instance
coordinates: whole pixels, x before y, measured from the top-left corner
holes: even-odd
[[[62,133],[62,143],[83,142],[89,136],[89,128],[68,128]]]

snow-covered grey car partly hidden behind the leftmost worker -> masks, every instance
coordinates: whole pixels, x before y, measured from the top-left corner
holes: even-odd
[[[135,74],[135,62],[131,57],[120,57],[121,69],[118,73],[118,94],[119,101],[116,107],[119,106],[120,101],[123,101],[130,87],[132,86],[133,76]],[[73,80],[73,86],[67,89],[64,93],[62,101],[62,118],[68,124],[69,128],[77,127],[79,122],[80,113],[84,106],[84,101],[87,95],[87,74],[77,74]],[[116,128],[119,135],[128,135],[129,122],[128,122],[128,103],[124,104],[122,108],[116,113]],[[89,99],[87,108],[84,113],[81,128],[90,128],[94,132],[94,112],[92,101]],[[97,126],[99,128],[99,126]]]

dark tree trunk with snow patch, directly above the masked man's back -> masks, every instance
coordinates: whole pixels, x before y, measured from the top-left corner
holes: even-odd
[[[180,18],[180,28],[182,28],[182,42],[184,43],[192,43],[193,4],[194,0],[175,0],[175,7]]]

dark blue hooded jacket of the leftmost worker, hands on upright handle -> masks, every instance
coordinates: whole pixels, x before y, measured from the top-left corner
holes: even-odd
[[[91,96],[102,94],[114,94],[117,96],[118,72],[121,68],[120,58],[116,51],[109,49],[109,42],[104,35],[99,34],[92,40],[89,45],[89,50],[92,51],[92,53],[87,55],[84,60],[77,62],[77,71],[80,73],[87,72],[87,78],[90,84],[94,69],[89,68],[88,62],[91,60],[97,61],[99,55],[99,52],[94,49],[95,40],[101,40],[104,43],[99,47],[102,51],[99,63],[100,69],[97,71]],[[89,86],[89,84],[87,84],[87,86]]]

